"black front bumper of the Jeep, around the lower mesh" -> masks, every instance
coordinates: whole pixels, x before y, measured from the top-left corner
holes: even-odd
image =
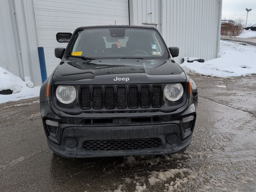
[[[156,119],[151,122],[130,122],[122,117],[120,122],[115,124],[86,124],[84,120],[95,118],[102,114],[80,114],[80,116],[66,115],[60,113],[51,106],[49,102],[41,102],[41,114],[44,124],[44,130],[47,136],[47,142],[50,149],[64,157],[84,158],[84,157],[101,157],[101,156],[130,156],[130,155],[147,155],[147,154],[171,154],[186,148],[191,140],[196,121],[197,100],[190,105],[184,106],[176,111],[169,113],[148,112],[126,114],[127,119],[138,118]],[[103,114],[103,116],[114,116],[120,118],[124,114]],[[86,116],[86,117],[82,117]],[[189,130],[185,131],[182,119],[188,116],[194,116],[194,120]],[[100,118],[103,118],[102,116]],[[107,117],[110,118],[110,117]],[[98,119],[98,118],[95,118]],[[160,120],[159,120],[160,119]],[[56,136],[49,133],[46,120],[58,122]],[[170,136],[171,135],[171,141]],[[173,137],[174,136],[174,137]],[[67,141],[76,140],[72,148]],[[161,145],[154,148],[136,148],[129,150],[88,150],[84,148],[84,141],[106,141],[106,140],[140,140],[144,138],[160,138]],[[169,140],[167,139],[169,138]],[[174,141],[173,141],[174,140]],[[72,144],[71,144],[72,145]]]

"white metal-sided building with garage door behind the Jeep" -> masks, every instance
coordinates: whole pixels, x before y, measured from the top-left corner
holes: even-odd
[[[219,55],[222,0],[1,0],[0,67],[42,84],[38,46],[44,47],[47,75],[60,62],[57,32],[80,26],[146,25],[156,27],[180,56],[205,60]]]

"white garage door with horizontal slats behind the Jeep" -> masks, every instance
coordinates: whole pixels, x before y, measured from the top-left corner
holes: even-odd
[[[57,32],[74,32],[80,26],[128,25],[128,0],[34,0],[38,44],[44,47],[47,75],[60,59],[54,48],[66,47],[56,41]]]

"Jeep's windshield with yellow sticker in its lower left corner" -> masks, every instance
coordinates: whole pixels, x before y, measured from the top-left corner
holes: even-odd
[[[94,59],[169,57],[158,32],[148,28],[88,28],[78,31],[70,43],[68,55]]]

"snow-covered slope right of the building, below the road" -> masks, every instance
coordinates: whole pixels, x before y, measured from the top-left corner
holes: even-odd
[[[184,62],[180,66],[190,73],[229,77],[256,74],[256,46],[220,40],[220,58],[200,62]]]

